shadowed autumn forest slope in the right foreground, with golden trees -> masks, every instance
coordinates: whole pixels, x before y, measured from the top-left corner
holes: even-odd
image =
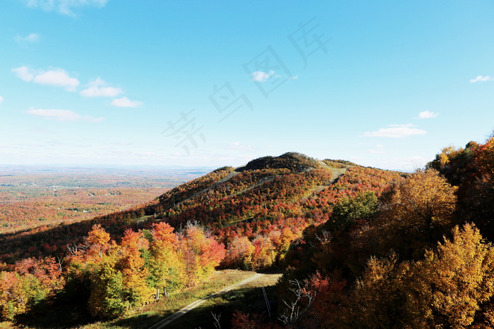
[[[291,244],[282,323],[493,328],[493,145],[447,147],[380,197],[340,199]]]

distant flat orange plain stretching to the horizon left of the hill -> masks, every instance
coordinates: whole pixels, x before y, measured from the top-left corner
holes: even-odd
[[[0,233],[74,223],[152,201],[208,170],[0,167]]]

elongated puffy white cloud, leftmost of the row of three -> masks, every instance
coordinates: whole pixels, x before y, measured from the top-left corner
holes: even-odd
[[[70,75],[61,68],[44,71],[32,70],[26,66],[20,66],[20,68],[13,68],[12,72],[16,73],[16,75],[25,82],[63,87],[68,92],[74,92],[79,85],[79,80],[75,77],[70,77]]]

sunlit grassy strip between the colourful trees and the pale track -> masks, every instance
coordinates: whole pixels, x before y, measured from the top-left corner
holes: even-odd
[[[149,328],[151,325],[157,323],[163,318],[179,311],[179,309],[184,306],[195,302],[197,299],[207,297],[210,294],[222,290],[225,287],[229,287],[230,285],[234,285],[241,280],[250,278],[253,275],[255,275],[255,272],[253,271],[217,271],[214,275],[212,275],[212,278],[207,280],[205,283],[200,283],[196,287],[191,287],[181,292],[170,294],[168,299],[161,299],[155,304],[148,305],[145,309],[141,309],[139,314],[135,313],[115,321],[97,322],[76,328]],[[171,326],[171,328],[175,328],[175,323]]]

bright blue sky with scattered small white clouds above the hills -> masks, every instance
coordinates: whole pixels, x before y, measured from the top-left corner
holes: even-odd
[[[4,0],[0,164],[400,170],[494,129],[493,1]]]

